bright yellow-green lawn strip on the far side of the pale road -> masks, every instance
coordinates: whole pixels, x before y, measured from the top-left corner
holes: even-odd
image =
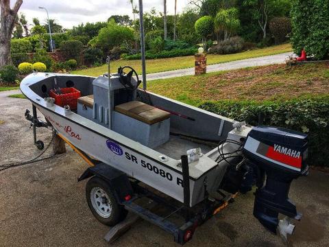
[[[273,47],[266,47],[263,49],[254,49],[251,51],[243,51],[238,54],[228,54],[228,55],[208,55],[208,64],[217,64],[221,62],[231,62],[235,60],[241,60],[246,58],[256,58],[260,56],[269,56],[280,54],[284,52],[291,51],[290,44],[276,45]],[[136,69],[137,73],[141,73],[141,60],[116,60],[111,62],[112,71],[117,70],[118,67],[130,66]],[[178,58],[161,58],[146,61],[146,71],[147,73],[156,73],[161,71],[171,71],[173,69],[185,69],[194,66],[193,56],[184,56]],[[101,67],[94,67],[90,69],[82,69],[78,71],[72,71],[72,73],[79,75],[91,75],[98,76],[105,73],[108,70],[107,64]]]

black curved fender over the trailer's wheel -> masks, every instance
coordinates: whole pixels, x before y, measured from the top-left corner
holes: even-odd
[[[77,178],[77,181],[80,182],[92,176],[98,176],[105,180],[108,185],[110,185],[117,202],[120,204],[126,200],[130,200],[134,194],[128,176],[110,165],[99,163],[93,167],[89,167],[79,178]]]

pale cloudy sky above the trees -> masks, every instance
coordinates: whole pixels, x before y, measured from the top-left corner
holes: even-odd
[[[138,5],[138,0],[134,0]],[[14,3],[14,0],[12,0]],[[167,12],[173,14],[175,0],[167,0]],[[178,12],[187,5],[188,0],[178,0]],[[156,8],[163,11],[163,0],[143,0],[144,11]],[[106,21],[114,14],[129,14],[132,16],[132,8],[129,0],[23,0],[20,12],[32,23],[32,18],[38,17],[41,23],[47,18],[45,10],[39,10],[38,6],[47,8],[49,18],[56,19],[60,25],[70,28],[73,25],[86,22]]]

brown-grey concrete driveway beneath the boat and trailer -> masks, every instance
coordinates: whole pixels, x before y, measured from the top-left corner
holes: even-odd
[[[32,130],[23,116],[31,104],[5,96],[13,93],[0,93],[0,165],[25,161],[40,152],[32,145]],[[38,130],[38,137],[47,145],[51,132]],[[0,172],[0,246],[108,246],[103,237],[109,228],[90,213],[86,182],[77,183],[86,168],[82,158],[68,148],[66,154],[51,160]],[[288,246],[329,245],[328,188],[329,174],[315,170],[293,182],[290,196],[304,217],[297,222]],[[253,202],[252,193],[238,196],[230,207],[197,228],[186,246],[285,246],[253,217]],[[171,235],[143,220],[112,245],[178,246]]]

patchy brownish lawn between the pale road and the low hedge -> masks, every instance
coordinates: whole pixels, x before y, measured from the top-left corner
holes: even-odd
[[[152,80],[147,90],[195,106],[205,101],[262,102],[329,95],[329,62],[300,64],[292,69],[275,64]]]

